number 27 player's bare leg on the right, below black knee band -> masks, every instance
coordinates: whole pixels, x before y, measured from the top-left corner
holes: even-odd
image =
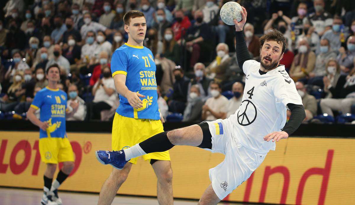
[[[159,160],[152,165],[157,175],[157,196],[160,205],[173,205],[173,170],[170,161]]]

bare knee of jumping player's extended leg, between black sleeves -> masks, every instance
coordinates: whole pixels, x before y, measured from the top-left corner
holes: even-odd
[[[174,145],[198,146],[202,143],[203,133],[197,124],[168,132],[168,139]]]

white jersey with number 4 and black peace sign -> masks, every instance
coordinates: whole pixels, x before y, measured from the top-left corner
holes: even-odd
[[[243,64],[245,88],[239,109],[229,117],[233,138],[256,153],[275,150],[275,142],[264,141],[269,133],[280,131],[286,123],[288,103],[302,105],[294,81],[280,65],[260,74],[260,62],[247,60]]]

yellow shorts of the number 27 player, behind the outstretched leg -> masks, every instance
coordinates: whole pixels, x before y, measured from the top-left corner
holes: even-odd
[[[112,124],[112,150],[127,149],[161,132],[164,132],[164,129],[160,120],[124,117],[115,113]],[[169,151],[155,152],[143,155],[143,159],[170,161],[170,155]],[[137,164],[137,157],[129,162]]]

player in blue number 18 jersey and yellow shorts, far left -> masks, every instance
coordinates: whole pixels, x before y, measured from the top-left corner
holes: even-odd
[[[69,176],[74,168],[73,149],[66,135],[65,115],[67,94],[58,88],[60,70],[57,64],[48,67],[46,77],[48,86],[37,92],[27,117],[39,130],[39,153],[41,159],[47,164],[44,172],[44,194],[41,204],[62,204],[58,197],[58,187]],[[38,119],[34,112],[40,109]],[[57,164],[63,162],[63,167],[53,182]]]

